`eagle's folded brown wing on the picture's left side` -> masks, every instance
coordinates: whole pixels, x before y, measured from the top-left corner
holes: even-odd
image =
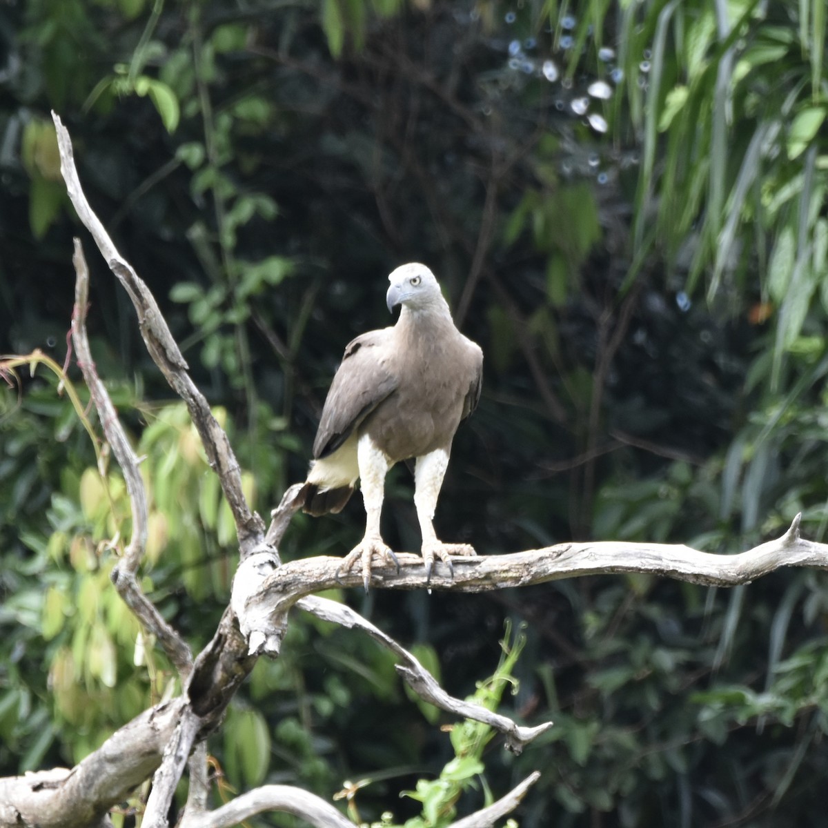
[[[388,368],[392,330],[369,330],[345,348],[316,431],[315,460],[337,450],[354,428],[397,389],[398,379]]]

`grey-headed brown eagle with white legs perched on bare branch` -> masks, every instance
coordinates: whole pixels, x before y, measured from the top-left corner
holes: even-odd
[[[483,351],[457,330],[440,285],[424,264],[397,267],[388,281],[388,311],[402,306],[397,324],[369,330],[346,346],[298,498],[311,515],[337,513],[361,480],[365,535],[340,570],[360,561],[366,591],[375,556],[397,562],[380,535],[379,517],[385,476],[400,461],[415,463],[414,505],[426,582],[435,558],[453,573],[450,556],[475,554],[468,543],[438,540],[433,520],[451,441],[480,398]]]

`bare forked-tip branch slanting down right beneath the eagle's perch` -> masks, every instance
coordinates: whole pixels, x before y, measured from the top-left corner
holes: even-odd
[[[354,612],[345,604],[339,604],[328,598],[320,598],[318,595],[311,595],[308,598],[301,599],[296,605],[317,618],[333,621],[349,629],[361,629],[364,633],[368,633],[371,638],[381,643],[383,647],[388,647],[402,660],[402,664],[397,664],[397,672],[405,679],[407,685],[412,688],[417,696],[431,702],[432,705],[439,707],[441,710],[463,716],[465,719],[474,719],[489,724],[506,737],[506,747],[513,753],[520,753],[532,739],[545,733],[552,726],[551,722],[544,722],[544,724],[539,724],[537,727],[520,727],[507,716],[493,713],[483,705],[449,696],[440,687],[436,678],[417,661],[411,652],[408,652],[405,647],[402,647],[401,644],[383,633],[370,621],[363,619],[359,613]]]

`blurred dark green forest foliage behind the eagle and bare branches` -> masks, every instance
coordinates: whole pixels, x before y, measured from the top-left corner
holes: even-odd
[[[446,538],[727,554],[802,511],[824,541],[825,47],[822,0],[4,3],[0,350],[66,355],[79,224],[54,108],[261,513],[304,474],[344,344],[388,320],[385,275],[421,260],[486,354]],[[147,458],[145,587],[197,648],[229,597],[232,522],[87,253],[99,373]],[[118,469],[104,457],[99,473],[47,370],[9,379],[0,772],[17,773],[74,763],[176,686],[108,585],[129,535]],[[411,489],[392,474],[397,548],[419,542]],[[359,503],[296,517],[282,554],[344,553],[362,521]],[[460,696],[497,667],[504,620],[526,623],[501,704],[556,727],[520,758],[481,746],[462,766],[474,786],[446,801],[459,813],[541,768],[527,828],[824,821],[821,572],[729,591],[628,575],[342,597]],[[343,789],[363,820],[440,825],[460,749],[439,721],[373,643],[297,616],[209,749],[225,797],[295,782]]]

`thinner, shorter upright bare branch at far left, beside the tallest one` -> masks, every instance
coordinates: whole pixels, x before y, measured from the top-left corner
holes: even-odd
[[[118,412],[109,398],[106,387],[101,382],[92,351],[89,349],[89,337],[86,334],[86,311],[89,305],[89,267],[84,258],[80,240],[75,238],[75,309],[72,312],[72,341],[78,355],[78,365],[84,374],[84,381],[92,395],[95,410],[103,427],[103,434],[112,446],[115,460],[123,472],[127,484],[130,508],[132,509],[132,537],[124,553],[112,570],[112,582],[124,603],[132,609],[137,619],[149,630],[164,648],[167,657],[176,666],[182,678],[190,674],[193,666],[193,653],[184,639],[166,621],[161,618],[155,605],[143,594],[138,584],[136,572],[147,547],[147,491],[141,472],[138,471],[138,459],[129,444],[123,426],[118,420]],[[103,474],[103,469],[101,469]]]

